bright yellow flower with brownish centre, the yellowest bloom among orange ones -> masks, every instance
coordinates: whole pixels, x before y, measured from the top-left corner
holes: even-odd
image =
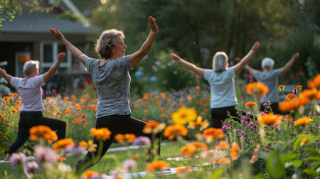
[[[189,121],[194,121],[196,118],[196,109],[187,109],[186,107],[180,107],[177,112],[172,114],[172,121],[174,121],[174,124],[185,125]]]

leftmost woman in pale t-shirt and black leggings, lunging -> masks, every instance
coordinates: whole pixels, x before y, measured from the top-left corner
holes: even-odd
[[[23,65],[24,78],[12,77],[0,68],[0,76],[4,77],[11,86],[15,87],[21,97],[18,136],[16,137],[16,141],[11,144],[4,161],[9,161],[11,154],[23,146],[23,143],[29,137],[29,129],[33,126],[48,126],[53,131],[57,131],[59,140],[65,138],[65,121],[50,119],[42,115],[45,107],[42,99],[43,90],[41,88],[55,75],[64,58],[65,53],[59,53],[57,62],[43,75],[39,75],[39,61],[28,60]]]

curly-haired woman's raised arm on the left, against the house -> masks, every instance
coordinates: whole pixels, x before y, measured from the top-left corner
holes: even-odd
[[[63,34],[60,33],[58,30],[50,28],[50,31],[53,34],[53,36],[60,40],[63,43],[63,45],[65,45],[65,47],[68,48],[68,50],[73,54],[73,56],[75,56],[75,58],[77,58],[85,66],[85,60],[88,58],[87,55],[85,55],[78,48],[73,46],[67,39],[65,39],[65,36],[63,36]]]

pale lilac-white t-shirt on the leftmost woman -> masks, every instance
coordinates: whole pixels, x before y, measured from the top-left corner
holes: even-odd
[[[21,112],[43,112],[45,110],[42,99],[42,86],[46,85],[43,75],[24,80],[12,77],[10,84],[18,90],[21,97]]]

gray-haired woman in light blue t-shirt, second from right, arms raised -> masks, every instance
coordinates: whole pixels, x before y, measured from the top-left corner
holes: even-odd
[[[249,53],[245,55],[240,63],[233,67],[228,67],[228,55],[224,52],[217,52],[213,56],[213,70],[197,67],[192,63],[188,63],[178,55],[171,53],[171,58],[177,60],[178,63],[185,66],[189,70],[196,73],[207,80],[210,84],[210,108],[211,108],[211,126],[221,128],[222,122],[228,118],[228,113],[231,116],[238,116],[235,105],[238,104],[235,97],[235,75],[238,75],[241,70],[250,62],[253,55],[257,51],[259,43],[256,42]]]

